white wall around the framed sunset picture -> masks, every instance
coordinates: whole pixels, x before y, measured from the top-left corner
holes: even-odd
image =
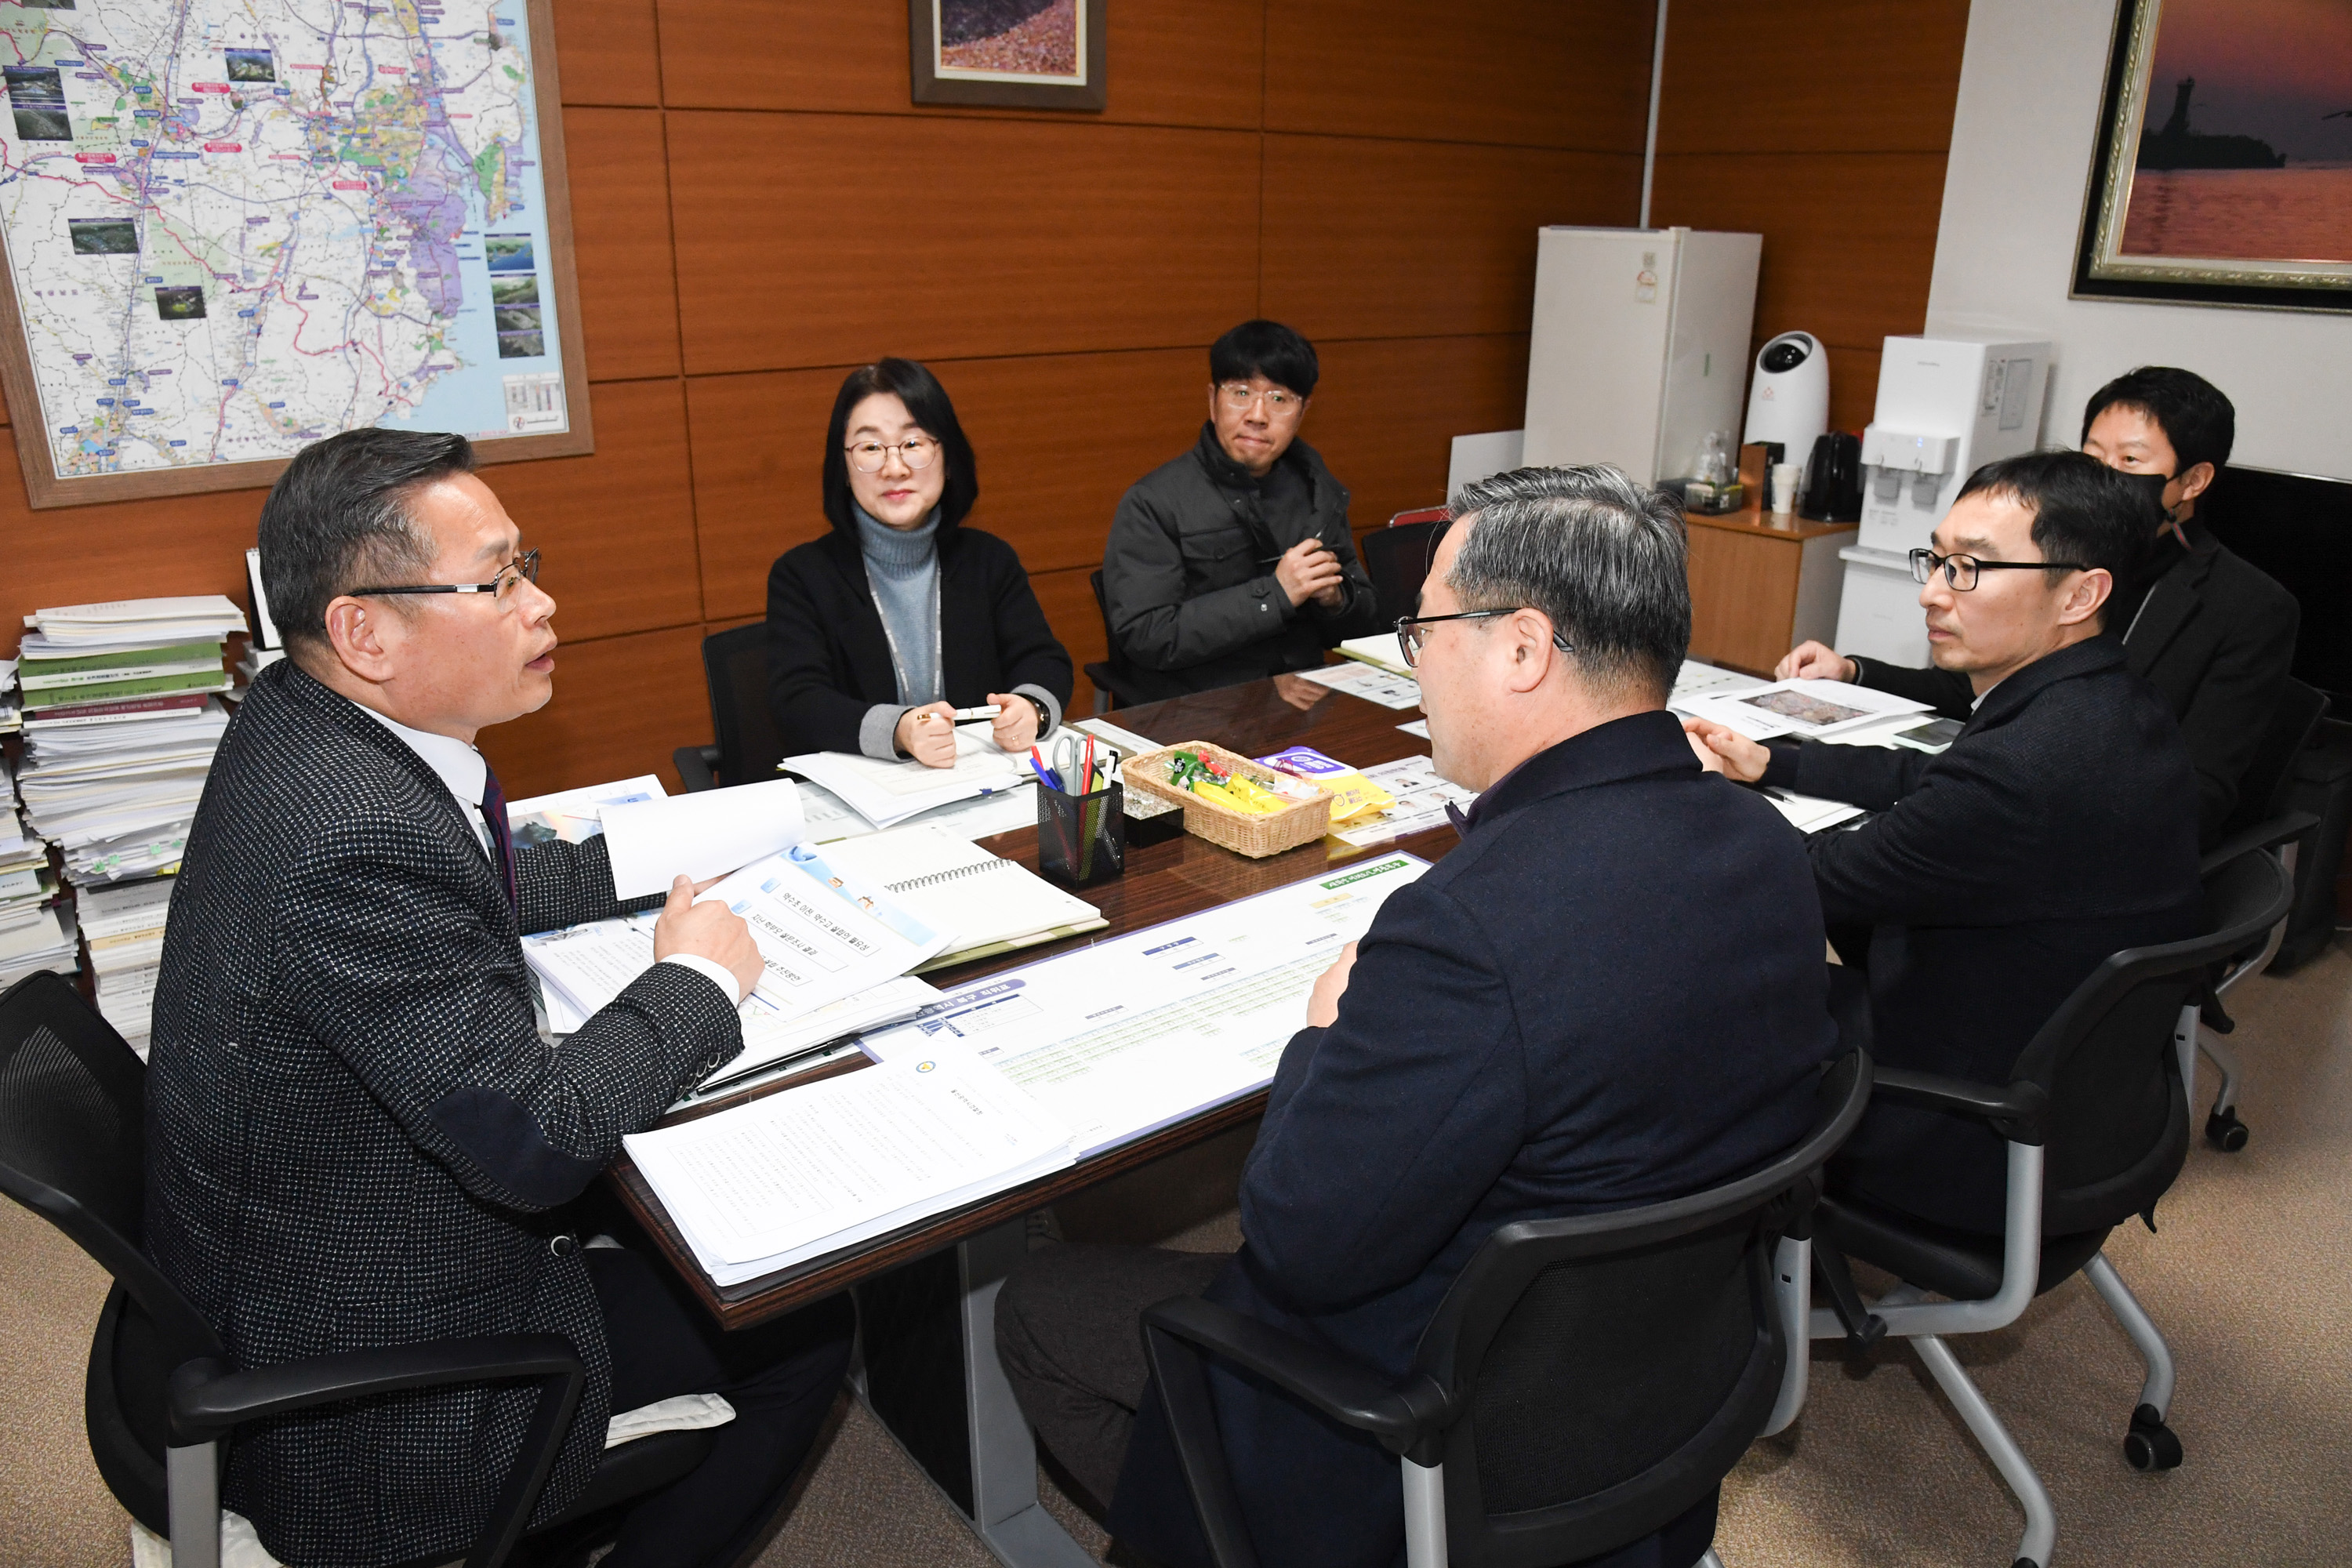
[[[2114,0],[1973,0],[1943,181],[1929,331],[2025,327],[2058,346],[2042,435],[2133,364],[2180,364],[2237,404],[2234,461],[2352,480],[2352,315],[2067,299]]]

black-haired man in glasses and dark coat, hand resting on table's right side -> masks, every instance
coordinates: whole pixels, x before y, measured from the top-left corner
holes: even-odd
[[[1806,846],[1830,929],[1870,926],[1872,1056],[2006,1084],[2100,959],[2194,936],[2197,795],[2164,703],[2100,618],[2154,529],[2154,498],[2077,451],[1969,475],[1936,548],[1915,550],[1936,668],[1973,712],[1936,757],[1684,729],[1731,778],[1879,811]],[[1860,947],[1839,945],[1849,964]],[[1863,976],[1842,971],[1837,990]],[[1971,1232],[2002,1229],[2004,1147],[1985,1124],[1872,1105],[1839,1154],[1858,1192]]]

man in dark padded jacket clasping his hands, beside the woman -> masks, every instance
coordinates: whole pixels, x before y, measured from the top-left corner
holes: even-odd
[[[1348,491],[1298,440],[1317,376],[1303,336],[1242,322],[1209,350],[1192,451],[1120,498],[1103,607],[1122,679],[1145,701],[1312,670],[1381,630]]]

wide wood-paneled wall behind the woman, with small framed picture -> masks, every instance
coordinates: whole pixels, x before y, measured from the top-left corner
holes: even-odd
[[[1084,663],[1103,529],[1192,442],[1216,334],[1317,341],[1305,440],[1376,527],[1519,423],[1534,230],[1639,205],[1649,0],[1112,0],[1101,115],[910,106],[903,0],[555,9],[597,451],[487,470],[562,604],[555,701],[485,736],[517,797],[710,738],[699,642],[826,527],[847,367],[931,362],[974,527]],[[0,447],[0,649],[40,604],[242,597],[259,503],[28,512]]]

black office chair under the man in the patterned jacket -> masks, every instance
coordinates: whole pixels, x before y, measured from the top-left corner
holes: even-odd
[[[35,973],[0,994],[0,1192],[66,1232],[115,1281],[89,1345],[85,1420],[89,1455],[122,1509],[172,1540],[172,1568],[219,1568],[223,1446],[245,1422],[369,1394],[536,1382],[522,1448],[466,1554],[466,1568],[503,1563],[586,1387],[572,1340],[501,1333],[233,1366],[221,1338],[139,1248],[143,1117],[146,1065],[73,985]],[[656,1432],[607,1450],[581,1500],[543,1528],[677,1481],[713,1441],[710,1432]]]

